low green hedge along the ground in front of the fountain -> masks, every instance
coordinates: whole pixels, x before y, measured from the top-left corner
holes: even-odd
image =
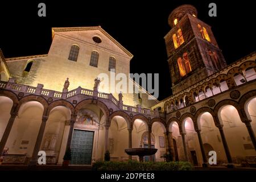
[[[192,170],[189,162],[96,162],[93,164],[96,171],[188,171]]]

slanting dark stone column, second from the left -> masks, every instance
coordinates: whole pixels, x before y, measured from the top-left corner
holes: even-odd
[[[38,163],[38,152],[40,150],[40,146],[43,140],[43,135],[44,135],[44,129],[46,129],[46,121],[48,117],[46,115],[43,115],[42,118],[42,123],[39,129],[38,137],[36,138],[36,143],[34,146],[33,154],[32,154],[32,159],[30,160],[30,163],[28,166],[36,166]]]

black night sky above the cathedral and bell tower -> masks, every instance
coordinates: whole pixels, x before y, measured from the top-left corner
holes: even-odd
[[[38,3],[47,7],[38,16]],[[217,17],[208,16],[210,2],[217,4]],[[228,64],[255,51],[253,1],[13,1],[0,2],[0,48],[5,57],[48,52],[51,27],[98,26],[133,53],[131,73],[159,73],[159,100],[170,96],[171,78],[164,35],[167,19],[175,7],[191,4],[198,18],[212,26],[218,46]]]

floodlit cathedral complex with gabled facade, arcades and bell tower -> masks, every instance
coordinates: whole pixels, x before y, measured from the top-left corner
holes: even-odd
[[[0,52],[2,165],[72,165],[138,160],[126,148],[158,148],[144,160],[187,160],[207,166],[255,165],[256,52],[227,65],[210,26],[191,5],[177,7],[164,36],[172,96],[112,93],[98,75],[129,77],[133,55],[99,27],[52,28],[46,55],[5,58]],[[71,71],[72,70],[72,71]],[[141,92],[143,91],[143,92]]]

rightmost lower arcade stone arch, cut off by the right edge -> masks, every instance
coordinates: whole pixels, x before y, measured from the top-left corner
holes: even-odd
[[[248,105],[249,105],[251,98],[253,98],[253,97],[256,97],[256,90],[251,90],[250,92],[243,94],[243,96],[238,101],[238,103],[241,107],[241,113],[242,113],[243,119],[251,119],[249,111],[248,111]]]

